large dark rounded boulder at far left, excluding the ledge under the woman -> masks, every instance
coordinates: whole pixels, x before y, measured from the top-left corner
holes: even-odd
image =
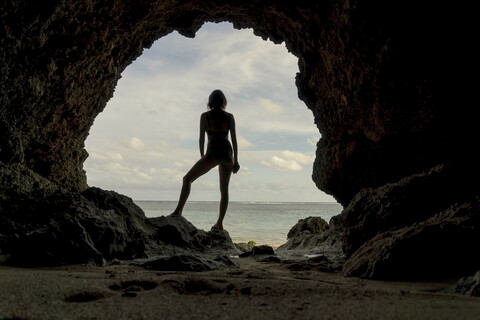
[[[143,211],[130,198],[98,188],[7,198],[0,212],[0,252],[11,265],[102,265],[145,257],[156,246]]]

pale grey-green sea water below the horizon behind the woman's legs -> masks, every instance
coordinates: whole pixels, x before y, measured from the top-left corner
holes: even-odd
[[[135,201],[149,218],[173,212],[175,201]],[[183,216],[198,229],[209,231],[218,218],[218,202],[189,201]],[[342,206],[325,202],[230,202],[223,227],[233,242],[255,241],[273,247],[287,241],[288,231],[300,219],[322,217],[327,222]]]

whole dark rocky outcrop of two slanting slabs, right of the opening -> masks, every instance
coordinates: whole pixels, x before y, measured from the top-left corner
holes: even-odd
[[[436,167],[361,192],[339,217],[343,247],[350,255],[344,274],[419,279],[478,270],[480,257],[474,251],[480,243],[480,197],[475,188],[455,183],[463,181],[468,179],[461,172]],[[451,198],[459,202],[449,205]]]

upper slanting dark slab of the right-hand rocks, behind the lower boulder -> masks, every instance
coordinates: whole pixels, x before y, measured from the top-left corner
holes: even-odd
[[[343,249],[351,255],[376,234],[424,221],[455,200],[474,197],[467,177],[443,165],[376,189],[364,189],[339,216]],[[473,193],[473,194],[472,194]]]

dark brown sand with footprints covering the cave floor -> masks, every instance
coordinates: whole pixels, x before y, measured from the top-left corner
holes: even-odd
[[[0,267],[0,319],[480,319],[458,279],[385,282],[235,259],[238,269]]]

